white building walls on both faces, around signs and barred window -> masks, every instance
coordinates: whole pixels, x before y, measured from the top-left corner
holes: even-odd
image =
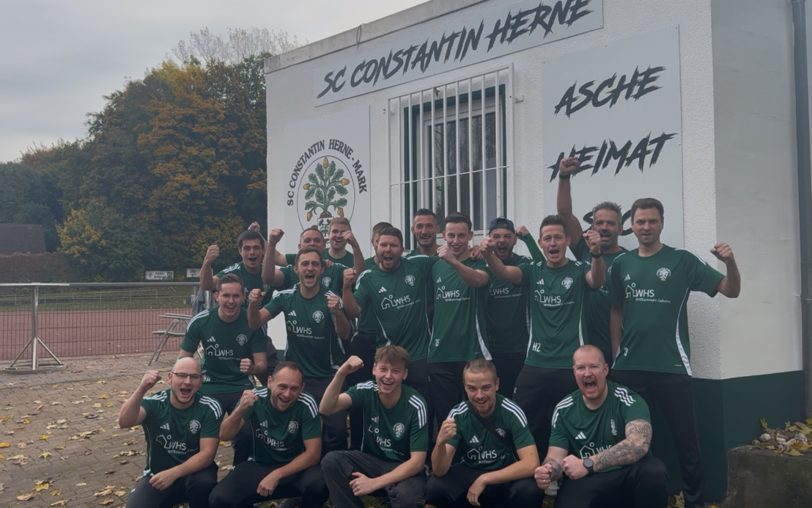
[[[390,218],[394,221],[398,218],[390,217],[388,207],[382,205],[390,193],[388,99],[512,64],[517,101],[513,107],[513,158],[508,161],[515,168],[513,215],[517,223],[535,229],[545,212],[555,206],[541,199],[540,189],[546,179],[537,169],[539,161],[550,158],[539,147],[539,88],[543,82],[539,63],[635,33],[678,26],[684,200],[682,217],[669,215],[666,210],[666,228],[669,222],[684,221],[685,247],[709,261],[713,258],[708,251],[717,237],[728,241],[745,277],[744,292],[738,300],[692,297],[695,375],[720,379],[800,369],[788,3],[606,0],[603,29],[367,95],[313,106],[315,69],[351,58],[367,45],[374,45],[374,37],[401,28],[401,34],[407,34],[409,26],[444,13],[451,13],[450,23],[455,10],[478,9],[494,2],[510,4],[500,0],[435,0],[364,25],[360,32],[345,32],[272,59],[267,74],[270,226],[285,222],[285,207],[274,197],[276,189],[287,184],[290,173],[289,161],[280,157],[285,147],[279,140],[284,138],[281,133],[286,124],[317,123],[369,108],[371,218],[373,222]],[[764,168],[770,168],[770,178],[764,178]],[[651,194],[656,197],[656,189]],[[607,190],[606,198],[612,198],[611,190]],[[368,228],[356,225],[356,232],[362,246],[369,245]],[[282,247],[286,251],[295,249],[295,233],[285,236]]]

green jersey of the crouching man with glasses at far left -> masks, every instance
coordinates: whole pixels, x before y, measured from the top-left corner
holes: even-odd
[[[147,440],[145,475],[153,475],[186,462],[200,452],[201,438],[218,438],[223,410],[220,404],[200,393],[186,409],[170,403],[170,390],[141,400],[147,416],[141,423]]]

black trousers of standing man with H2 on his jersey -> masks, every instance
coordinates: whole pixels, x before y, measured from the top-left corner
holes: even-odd
[[[536,441],[539,457],[547,455],[550,422],[556,404],[577,389],[571,369],[543,369],[525,365],[519,373],[513,400],[527,415],[527,423]]]

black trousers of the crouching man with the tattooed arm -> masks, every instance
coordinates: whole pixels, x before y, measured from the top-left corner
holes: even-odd
[[[578,480],[565,478],[556,508],[665,508],[667,474],[660,459],[647,455],[629,466]]]

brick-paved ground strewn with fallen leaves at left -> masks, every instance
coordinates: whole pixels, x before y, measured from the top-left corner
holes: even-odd
[[[173,357],[157,368],[168,371]],[[145,443],[141,427],[122,430],[116,419],[148,359],[68,358],[62,370],[0,372],[0,506],[123,506]],[[217,462],[231,457],[221,444]]]

